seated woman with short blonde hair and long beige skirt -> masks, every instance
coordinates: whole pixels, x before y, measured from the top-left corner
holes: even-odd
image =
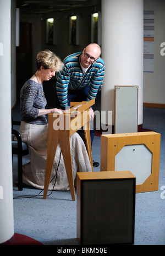
[[[57,108],[45,109],[47,101],[42,83],[50,80],[62,67],[61,59],[53,52],[49,50],[39,52],[36,60],[36,73],[26,81],[20,91],[20,134],[22,140],[29,146],[30,156],[30,162],[23,166],[23,182],[40,189],[44,188],[48,141],[48,123],[45,115],[54,112],[63,113]],[[91,165],[85,144],[77,133],[70,137],[70,148],[75,179],[76,172],[91,171]],[[52,180],[56,172],[57,179]],[[51,180],[49,189],[69,190],[60,145],[57,146]]]

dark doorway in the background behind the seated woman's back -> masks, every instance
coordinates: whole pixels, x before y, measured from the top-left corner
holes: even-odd
[[[32,76],[32,24],[20,23],[20,43],[17,47],[17,100],[25,81]]]

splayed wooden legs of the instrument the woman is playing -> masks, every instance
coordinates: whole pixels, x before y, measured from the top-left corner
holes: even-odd
[[[65,123],[64,123],[64,125],[65,125]],[[87,152],[89,155],[91,168],[93,171],[89,122],[84,124],[83,128],[84,128],[84,133],[85,133],[86,149],[87,149]],[[48,126],[48,146],[47,146],[47,160],[46,160],[43,199],[46,199],[46,197],[47,197],[47,192],[48,192],[48,187],[50,184],[53,162],[54,162],[54,157],[56,154],[58,141],[59,141],[59,143],[61,145],[61,149],[62,149],[62,154],[63,154],[64,164],[65,164],[65,170],[67,172],[70,193],[72,195],[72,200],[75,201],[72,156],[71,156],[71,150],[70,150],[70,130],[69,129],[65,129],[65,130],[64,129],[61,129],[61,130],[53,129],[52,116],[50,116],[49,126]]]

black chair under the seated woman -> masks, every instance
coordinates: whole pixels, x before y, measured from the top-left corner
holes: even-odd
[[[28,146],[21,139],[20,133],[13,129],[13,125],[20,125],[19,121],[13,121],[12,117],[12,158],[18,156],[18,190],[23,190],[23,156],[29,154]],[[17,140],[14,140],[14,137]]]

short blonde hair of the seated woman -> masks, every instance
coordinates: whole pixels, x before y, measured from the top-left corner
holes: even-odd
[[[59,72],[63,68],[63,62],[56,54],[50,50],[44,50],[38,52],[36,58],[36,69],[40,70],[41,66],[45,69],[53,69],[56,72]]]

